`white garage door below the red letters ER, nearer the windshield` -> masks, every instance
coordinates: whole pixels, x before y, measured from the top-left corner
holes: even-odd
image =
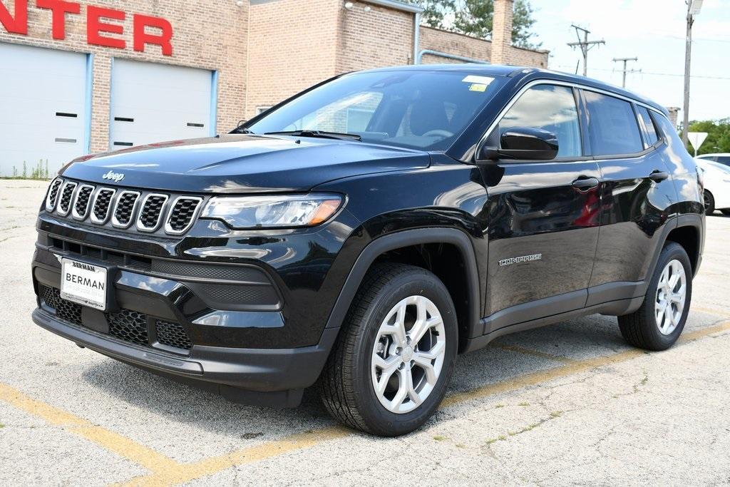
[[[110,148],[208,137],[213,73],[115,59]]]

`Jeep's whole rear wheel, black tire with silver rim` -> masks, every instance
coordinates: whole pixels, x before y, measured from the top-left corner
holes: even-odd
[[[670,264],[672,264],[671,267]],[[680,311],[677,309],[679,304],[669,299],[668,310],[665,308],[664,313],[660,315],[658,307],[661,307],[662,302],[668,301],[666,299],[667,294],[676,296],[673,292],[666,292],[666,289],[671,287],[670,284],[667,284],[666,287],[661,284],[666,269],[669,269],[669,276],[674,275],[673,272],[679,275],[683,272],[683,280],[679,280],[677,286],[672,288],[672,291],[680,289],[680,283],[683,283],[685,286],[684,300]],[[664,300],[661,299],[662,296],[665,297]],[[668,242],[661,250],[642,306],[631,315],[618,317],[618,326],[621,329],[623,338],[631,345],[645,350],[666,350],[674,345],[680,334],[682,334],[687,321],[691,299],[692,266],[689,257],[681,245],[676,242]],[[672,318],[674,319],[672,320]],[[672,323],[672,321],[676,323]]]

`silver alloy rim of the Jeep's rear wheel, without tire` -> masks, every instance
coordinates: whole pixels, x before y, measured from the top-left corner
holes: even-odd
[[[656,288],[654,313],[661,334],[672,334],[682,319],[687,299],[687,275],[680,261],[669,261]]]

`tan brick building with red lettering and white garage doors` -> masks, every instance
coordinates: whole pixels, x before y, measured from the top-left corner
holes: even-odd
[[[0,0],[0,175],[228,131],[342,72],[547,66],[511,30],[512,0],[496,0],[492,42],[395,0]]]

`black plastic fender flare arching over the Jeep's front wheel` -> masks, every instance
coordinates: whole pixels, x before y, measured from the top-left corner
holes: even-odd
[[[461,252],[461,256],[464,258],[464,267],[466,268],[466,285],[469,293],[469,322],[466,323],[466,326],[469,331],[479,326],[481,294],[477,259],[472,241],[461,230],[430,228],[397,231],[393,234],[378,237],[370,242],[360,253],[352,270],[350,270],[350,274],[347,275],[345,285],[342,286],[342,290],[337,296],[337,301],[330,312],[325,329],[339,329],[342,326],[347,310],[350,309],[350,304],[352,304],[363,278],[376,258],[390,250],[433,243],[456,245],[456,248]],[[464,339],[464,337],[460,337],[461,339]]]

